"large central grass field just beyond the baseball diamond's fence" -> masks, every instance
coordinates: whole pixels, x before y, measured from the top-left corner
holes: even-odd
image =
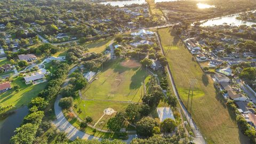
[[[98,79],[82,90],[83,97],[94,100],[141,101],[141,82],[148,74],[140,66],[121,66],[122,61],[115,60],[105,64],[103,71],[97,76]]]

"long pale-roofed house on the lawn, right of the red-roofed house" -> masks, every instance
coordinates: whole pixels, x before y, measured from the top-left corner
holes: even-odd
[[[45,74],[42,71],[37,71],[36,73],[29,74],[23,78],[25,79],[26,84],[36,84],[44,81]]]

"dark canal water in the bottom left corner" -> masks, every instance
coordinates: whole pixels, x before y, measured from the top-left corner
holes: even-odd
[[[28,114],[28,107],[21,107],[11,111],[6,116],[0,118],[0,143],[10,142],[14,135],[14,130],[20,126],[23,118]]]

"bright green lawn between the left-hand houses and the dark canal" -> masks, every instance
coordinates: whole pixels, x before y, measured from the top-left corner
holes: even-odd
[[[1,93],[0,103],[3,105],[13,104],[15,107],[27,105],[30,100],[37,96],[37,94],[44,90],[47,83],[37,85],[26,85],[23,77],[15,77],[11,83],[12,86],[19,85],[20,91],[15,92],[13,89]]]

